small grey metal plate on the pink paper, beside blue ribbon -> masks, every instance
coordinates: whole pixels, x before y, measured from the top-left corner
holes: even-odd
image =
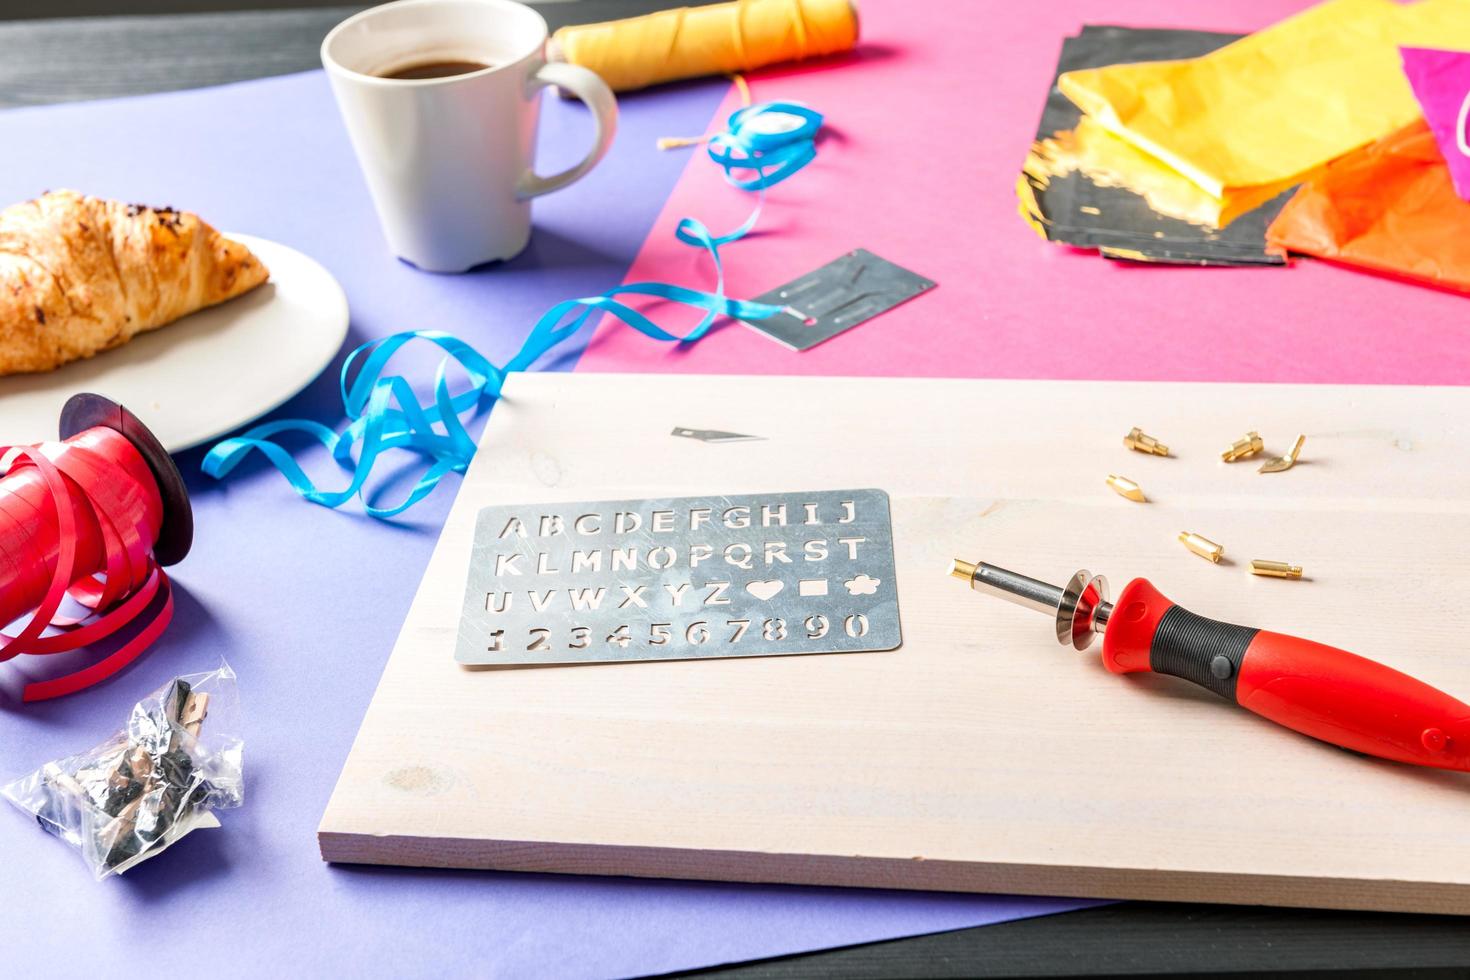
[[[776,316],[742,322],[791,350],[804,351],[933,287],[932,279],[879,259],[866,248],[854,248],[756,297],[756,303],[782,306]]]

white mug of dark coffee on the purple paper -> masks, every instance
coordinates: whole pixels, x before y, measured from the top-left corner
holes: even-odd
[[[531,198],[597,166],[617,129],[601,78],[545,60],[547,24],[513,0],[397,0],[347,18],[322,65],[394,254],[431,272],[510,259],[531,241]],[[429,62],[478,62],[445,78],[385,75]],[[532,169],[541,90],[592,110],[592,151],[554,176]]]

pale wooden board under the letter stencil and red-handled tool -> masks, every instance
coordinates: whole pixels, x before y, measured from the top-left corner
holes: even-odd
[[[1470,914],[1470,774],[1116,677],[948,558],[1347,646],[1470,695],[1470,392],[516,375],[343,770],[323,858]],[[711,445],[673,426],[766,436]],[[1177,458],[1126,451],[1141,425]],[[1302,463],[1226,466],[1247,429]],[[1104,486],[1138,480],[1150,504]],[[487,504],[878,486],[892,652],[472,671]],[[1179,530],[1225,544],[1186,552]],[[1250,558],[1310,580],[1251,577]]]

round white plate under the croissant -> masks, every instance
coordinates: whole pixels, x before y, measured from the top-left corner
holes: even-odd
[[[0,378],[0,445],[54,439],[66,400],[93,391],[178,453],[263,416],[320,375],[347,336],[343,287],[295,248],[226,237],[266,263],[269,282],[88,360]]]

